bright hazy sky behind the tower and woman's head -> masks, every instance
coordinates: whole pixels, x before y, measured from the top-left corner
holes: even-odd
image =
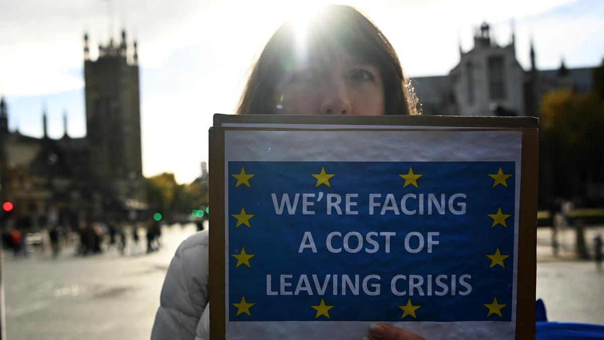
[[[233,113],[249,70],[287,19],[327,3],[353,5],[391,41],[411,77],[445,75],[472,48],[474,28],[491,24],[500,45],[516,33],[516,57],[541,70],[594,67],[604,58],[604,1],[374,0],[5,0],[0,11],[0,96],[9,127],[42,136],[86,135],[83,33],[91,59],[110,36],[138,41],[143,174],[201,174],[214,113]],[[113,33],[111,33],[113,32]],[[210,166],[211,171],[211,166]]]

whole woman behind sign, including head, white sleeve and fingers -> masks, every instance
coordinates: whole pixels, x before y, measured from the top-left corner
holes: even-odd
[[[417,99],[384,34],[355,8],[329,5],[300,30],[282,25],[260,55],[237,114],[417,114]],[[208,338],[208,233],[176,251],[152,339]],[[371,324],[372,339],[422,339]]]

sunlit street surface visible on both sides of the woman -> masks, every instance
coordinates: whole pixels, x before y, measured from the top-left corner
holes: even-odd
[[[90,257],[64,249],[57,260],[5,253],[7,338],[149,339],[165,271],[194,232],[193,224],[164,227],[162,248],[150,255],[144,244],[124,257],[116,249]],[[604,324],[604,273],[591,261],[549,255],[547,232],[538,232],[537,297],[548,319]]]

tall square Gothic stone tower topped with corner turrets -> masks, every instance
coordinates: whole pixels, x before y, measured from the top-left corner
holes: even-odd
[[[97,60],[89,57],[88,34],[84,43],[91,180],[122,205],[144,200],[137,42],[130,54],[122,31],[119,45],[98,46]]]

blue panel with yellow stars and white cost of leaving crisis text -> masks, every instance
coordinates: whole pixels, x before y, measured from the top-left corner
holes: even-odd
[[[229,321],[510,321],[515,162],[228,162]]]

